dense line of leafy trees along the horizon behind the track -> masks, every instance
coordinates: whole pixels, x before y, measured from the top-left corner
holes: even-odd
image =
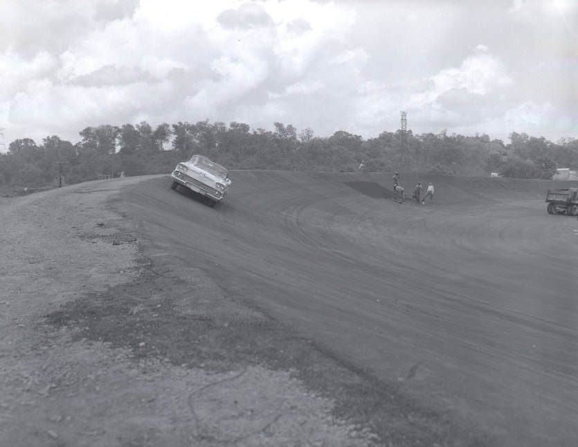
[[[163,123],[143,121],[121,127],[100,125],[79,132],[73,144],[47,136],[37,144],[14,140],[0,154],[0,186],[42,188],[104,176],[170,172],[192,154],[204,154],[228,169],[353,172],[365,161],[370,172],[414,171],[460,176],[551,179],[557,167],[578,166],[578,140],[552,143],[513,132],[510,142],[481,136],[383,131],[364,139],[347,131],[315,136],[312,129],[274,123],[274,129],[251,129],[242,122]],[[404,143],[404,140],[406,143]]]

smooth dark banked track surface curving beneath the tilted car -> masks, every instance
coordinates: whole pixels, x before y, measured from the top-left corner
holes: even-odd
[[[436,194],[418,206],[384,174],[231,178],[214,209],[168,177],[116,207],[225,295],[496,445],[575,445],[578,224],[543,203],[568,183],[421,176]]]

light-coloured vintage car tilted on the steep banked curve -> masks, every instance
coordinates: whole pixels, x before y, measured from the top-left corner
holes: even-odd
[[[173,190],[181,185],[210,199],[210,206],[222,201],[231,185],[227,170],[202,155],[179,163],[171,174]]]

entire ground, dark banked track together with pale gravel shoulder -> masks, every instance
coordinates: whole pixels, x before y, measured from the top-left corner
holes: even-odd
[[[2,439],[575,445],[554,183],[437,178],[419,206],[377,174],[232,179],[214,209],[165,176],[0,202]]]

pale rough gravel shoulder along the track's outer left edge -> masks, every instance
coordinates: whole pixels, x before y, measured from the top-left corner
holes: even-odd
[[[154,347],[147,328],[156,319],[210,320],[226,330],[229,320],[263,317],[226,300],[201,271],[152,270],[141,241],[106,206],[143,179],[0,199],[3,445],[381,444],[367,426],[336,417],[334,401],[291,370],[218,351],[176,364]],[[169,296],[179,290],[198,306]]]

